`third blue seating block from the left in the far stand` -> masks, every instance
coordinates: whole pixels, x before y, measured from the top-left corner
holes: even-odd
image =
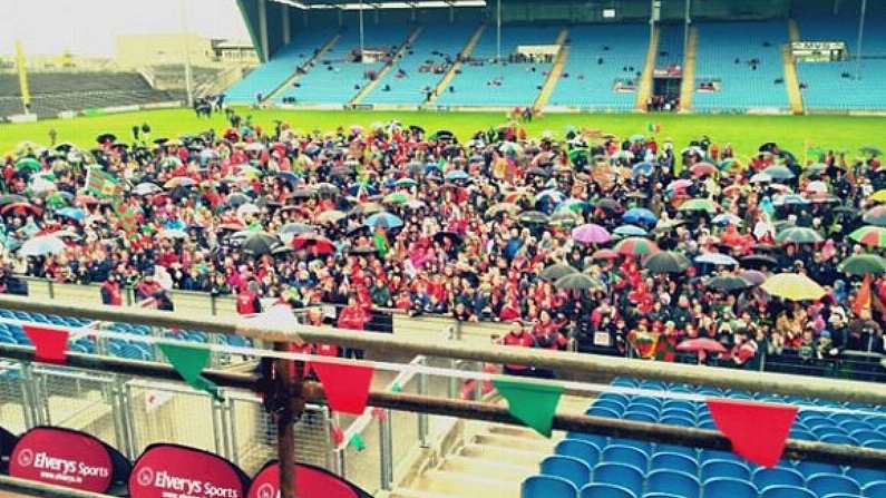
[[[449,70],[448,61],[456,60],[476,29],[474,23],[425,26],[411,49],[395,62],[364,102],[422,104],[428,90],[432,90]]]

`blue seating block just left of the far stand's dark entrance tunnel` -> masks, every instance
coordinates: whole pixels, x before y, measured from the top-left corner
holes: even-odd
[[[643,71],[648,50],[648,26],[595,25],[569,28],[569,56],[548,106],[632,109],[636,94],[615,91],[615,80],[636,82],[637,74]]]

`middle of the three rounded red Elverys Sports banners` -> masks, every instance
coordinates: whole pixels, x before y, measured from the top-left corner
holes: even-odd
[[[249,478],[234,463],[179,445],[152,445],[129,475],[130,498],[244,498]]]

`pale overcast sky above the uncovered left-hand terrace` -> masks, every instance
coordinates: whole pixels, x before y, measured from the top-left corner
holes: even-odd
[[[249,39],[236,0],[185,0],[189,31]],[[127,33],[179,31],[179,0],[0,0],[0,53],[113,55]]]

